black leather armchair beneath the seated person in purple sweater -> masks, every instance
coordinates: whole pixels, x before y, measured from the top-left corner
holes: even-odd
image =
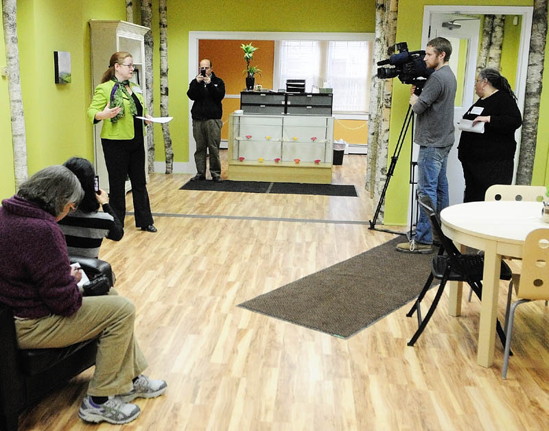
[[[73,257],[86,274],[111,277],[110,264]],[[95,364],[97,339],[60,349],[19,349],[12,310],[0,303],[0,430],[16,431],[19,415],[44,395]]]

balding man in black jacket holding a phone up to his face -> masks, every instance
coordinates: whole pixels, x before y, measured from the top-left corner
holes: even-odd
[[[206,179],[206,152],[209,152],[211,179],[217,183],[221,179],[219,147],[221,143],[221,119],[223,108],[221,101],[225,97],[225,84],[211,70],[211,61],[200,61],[200,73],[189,84],[187,96],[194,100],[191,108],[193,119],[193,137],[196,141],[194,163],[197,174],[191,181]]]

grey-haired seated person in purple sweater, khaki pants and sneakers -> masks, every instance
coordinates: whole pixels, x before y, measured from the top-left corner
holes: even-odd
[[[114,294],[82,298],[57,224],[84,192],[64,166],[36,172],[0,207],[0,301],[13,310],[21,349],[66,347],[100,337],[95,372],[78,415],[84,421],[128,423],[137,397],[166,389],[141,372],[147,362],[134,336],[135,306]],[[55,328],[52,330],[52,328]]]

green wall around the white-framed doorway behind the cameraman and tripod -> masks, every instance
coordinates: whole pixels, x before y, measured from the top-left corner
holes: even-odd
[[[399,0],[399,18],[397,22],[397,42],[408,42],[410,50],[425,49],[421,45],[421,31],[423,23],[423,8],[425,5],[502,5],[502,6],[531,6],[533,0]],[[549,58],[546,64],[549,64]],[[547,69],[547,67],[546,67]],[[547,78],[546,74],[546,77]],[[545,92],[542,94],[543,103],[549,97],[549,88],[545,87]],[[408,109],[408,100],[410,98],[410,86],[401,84],[395,80],[393,85],[393,107],[391,108],[390,118],[390,135],[389,135],[389,154],[393,154],[395,145],[397,144],[398,132],[401,128],[402,121],[406,116]],[[549,115],[549,106],[546,112]],[[540,125],[543,121],[540,121]],[[533,184],[543,183],[543,178],[547,170],[548,157],[546,156],[548,145],[549,130],[539,130],[537,157],[535,163]],[[410,166],[408,163],[410,154],[410,137],[407,136],[402,147],[399,162],[397,163],[395,174],[390,181],[386,199],[385,199],[385,214],[384,223],[389,225],[405,225],[407,222],[408,212],[408,194],[409,188],[409,172]],[[544,149],[540,147],[543,146]],[[541,154],[543,153],[543,154]],[[540,156],[541,154],[541,156]],[[544,157],[545,156],[545,157]],[[543,159],[543,160],[541,160]],[[543,175],[541,175],[543,172]]]

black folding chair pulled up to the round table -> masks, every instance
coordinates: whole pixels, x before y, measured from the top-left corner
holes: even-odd
[[[458,251],[454,243],[449,240],[446,235],[444,235],[439,218],[433,209],[429,196],[420,196],[418,202],[422,210],[425,211],[425,214],[428,216],[434,233],[438,234],[441,241],[441,246],[439,248],[439,253],[432,259],[431,273],[425,282],[425,286],[423,286],[423,289],[419,293],[414,305],[408,314],[406,314],[406,316],[411,317],[414,312],[417,312],[417,321],[419,325],[414,336],[412,336],[411,340],[408,342],[408,346],[414,345],[419,336],[421,336],[425,326],[429,323],[436,305],[439,304],[447,281],[467,282],[478,298],[482,299],[481,280],[482,273],[484,272],[484,255],[478,255],[476,253],[462,254]],[[436,291],[434,300],[425,315],[425,318],[422,319],[420,304],[423,297],[430,289],[431,283],[434,279],[439,279],[441,284],[439,286],[439,290]],[[511,280],[511,268],[509,268],[504,261],[502,261],[500,279],[507,281]],[[496,322],[496,331],[498,331],[498,335],[502,340],[502,345],[505,345],[505,334],[499,320]]]

